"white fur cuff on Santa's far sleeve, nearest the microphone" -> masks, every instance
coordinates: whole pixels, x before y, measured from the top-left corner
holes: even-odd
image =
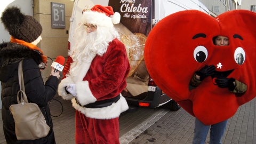
[[[65,79],[62,79],[62,81],[58,86],[58,94],[62,97],[62,99],[65,99],[65,100],[71,100],[72,98],[74,98],[71,94],[68,94],[66,92],[66,86],[68,86],[68,84],[74,84],[74,82],[70,77],[66,77]]]

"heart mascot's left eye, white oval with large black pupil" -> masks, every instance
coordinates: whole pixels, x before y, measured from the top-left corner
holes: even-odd
[[[194,50],[194,58],[197,62],[204,62],[208,57],[208,51],[202,45],[197,46]]]

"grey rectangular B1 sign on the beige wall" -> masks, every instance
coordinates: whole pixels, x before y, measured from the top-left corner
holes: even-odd
[[[52,28],[65,28],[65,4],[51,2]]]

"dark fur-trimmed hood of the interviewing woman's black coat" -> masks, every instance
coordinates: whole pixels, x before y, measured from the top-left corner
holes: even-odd
[[[10,77],[13,70],[18,66],[18,61],[28,58],[34,59],[37,65],[43,61],[40,53],[26,46],[11,42],[1,43],[0,81],[5,82]]]

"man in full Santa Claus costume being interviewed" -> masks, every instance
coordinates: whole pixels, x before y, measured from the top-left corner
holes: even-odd
[[[95,5],[83,12],[58,93],[76,109],[76,143],[119,143],[119,115],[128,109],[121,95],[130,65],[113,24],[120,14]],[[86,29],[95,29],[88,33]]]

